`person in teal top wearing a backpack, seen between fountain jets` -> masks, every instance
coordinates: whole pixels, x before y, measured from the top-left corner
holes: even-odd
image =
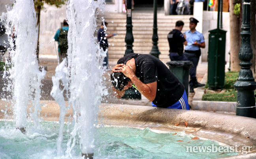
[[[68,58],[68,20],[64,19],[63,27],[56,31],[54,39],[58,41],[58,56],[61,63],[65,57]]]

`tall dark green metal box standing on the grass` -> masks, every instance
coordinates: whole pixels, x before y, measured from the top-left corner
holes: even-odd
[[[223,89],[225,82],[226,32],[219,29],[209,30],[208,81],[209,89]],[[218,41],[217,41],[218,38]]]

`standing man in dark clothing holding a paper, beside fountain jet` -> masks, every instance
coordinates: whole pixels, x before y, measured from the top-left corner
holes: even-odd
[[[108,48],[108,42],[107,39],[113,37],[115,34],[109,34],[105,32],[107,28],[104,30],[104,23],[105,26],[107,27],[107,22],[102,22],[102,25],[100,26],[100,29],[98,30],[98,43],[100,43],[100,47],[103,49],[103,51],[106,51]],[[108,54],[106,57],[104,57],[104,64],[103,67],[105,68],[106,71],[111,71],[111,69],[108,68]]]

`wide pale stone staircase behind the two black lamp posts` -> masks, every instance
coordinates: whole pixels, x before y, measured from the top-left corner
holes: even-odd
[[[125,35],[126,35],[126,14],[125,13],[109,13],[98,16],[97,25],[100,27],[104,17],[108,22],[107,34],[116,33],[115,37],[109,38],[109,62],[117,62],[118,59],[124,56],[126,50]],[[167,35],[169,31],[175,28],[177,20],[183,20],[183,31],[189,30],[189,18],[191,15],[164,15],[158,13],[158,49],[160,51],[160,60],[164,63],[170,61],[169,59],[169,43]],[[153,34],[153,13],[149,12],[133,12],[132,25],[134,36],[134,53],[149,54],[152,48],[152,34]]]

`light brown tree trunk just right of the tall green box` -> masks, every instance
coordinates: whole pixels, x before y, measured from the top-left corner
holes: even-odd
[[[237,15],[234,14],[235,0],[230,0],[230,70],[240,70],[239,50],[241,46],[240,23]]]

